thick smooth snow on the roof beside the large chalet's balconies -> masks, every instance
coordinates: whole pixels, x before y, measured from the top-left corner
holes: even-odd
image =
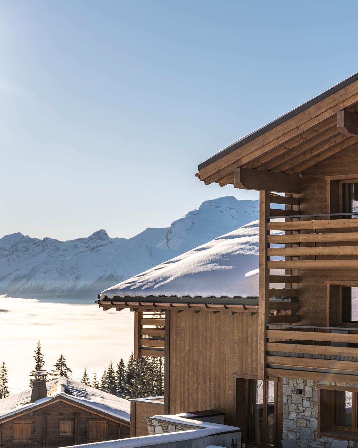
[[[145,301],[154,296],[188,302],[188,297],[257,297],[258,245],[257,220],[104,290],[100,300],[141,297]]]

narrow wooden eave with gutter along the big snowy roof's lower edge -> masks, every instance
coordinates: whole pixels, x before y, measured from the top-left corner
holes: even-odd
[[[146,301],[135,300],[133,298],[124,300],[122,297],[114,297],[113,300],[96,300],[96,303],[98,303],[99,307],[102,308],[104,311],[110,310],[111,308],[115,308],[117,311],[121,311],[127,308],[131,311],[164,312],[166,310],[177,310],[177,311],[192,310],[196,312],[231,311],[232,313],[238,313],[238,312],[257,313],[259,309],[258,305],[251,305],[251,304],[237,305],[234,303],[210,303],[210,302],[208,303],[167,302],[167,301],[162,302],[158,297],[157,300],[149,302],[147,300]]]

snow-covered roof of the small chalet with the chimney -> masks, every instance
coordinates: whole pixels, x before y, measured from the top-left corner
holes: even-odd
[[[84,405],[101,414],[130,422],[131,405],[128,400],[102,392],[78,381],[60,377],[46,383],[47,397],[30,403],[32,389],[10,395],[0,400],[0,421],[26,409],[44,405],[54,398],[63,397],[74,404]]]

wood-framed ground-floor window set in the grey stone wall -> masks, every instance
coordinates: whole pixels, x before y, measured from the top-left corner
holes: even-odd
[[[320,432],[343,434],[357,431],[354,437],[358,437],[357,389],[336,387],[332,390],[325,387],[320,386]]]

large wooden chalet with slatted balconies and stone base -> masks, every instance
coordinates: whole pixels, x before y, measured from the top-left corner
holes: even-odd
[[[166,413],[217,409],[255,446],[356,443],[358,74],[226,147],[197,177],[260,191],[257,303],[235,297],[239,284],[160,296],[170,280],[146,289],[136,276],[99,306],[135,312],[137,357],[164,355]]]

